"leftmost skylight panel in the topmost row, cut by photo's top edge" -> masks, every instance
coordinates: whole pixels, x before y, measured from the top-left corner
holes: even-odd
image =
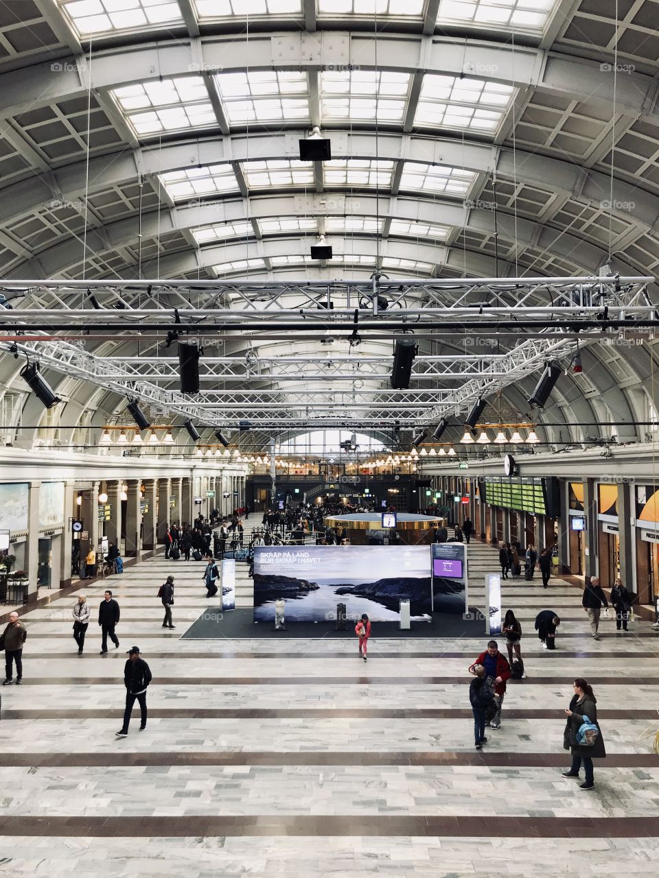
[[[158,25],[183,25],[175,0],[58,0],[83,36],[136,31]]]

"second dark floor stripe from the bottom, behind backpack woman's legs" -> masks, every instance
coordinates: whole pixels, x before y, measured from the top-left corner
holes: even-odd
[[[132,732],[131,732],[132,736]],[[130,737],[127,740],[130,740]],[[460,751],[396,752],[126,752],[112,746],[104,752],[0,753],[4,767],[78,768],[84,766],[490,766],[564,768],[566,753]],[[655,753],[608,754],[603,768],[659,768]],[[657,821],[659,823],[659,821]]]

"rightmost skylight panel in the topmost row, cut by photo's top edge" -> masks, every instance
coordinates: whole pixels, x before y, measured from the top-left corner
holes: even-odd
[[[441,0],[437,24],[542,32],[555,0]]]

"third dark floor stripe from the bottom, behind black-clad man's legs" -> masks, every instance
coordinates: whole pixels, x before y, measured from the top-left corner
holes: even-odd
[[[566,699],[567,703],[567,699]],[[25,710],[5,709],[3,719],[105,719],[124,716],[121,709],[102,708],[32,708]],[[152,719],[472,719],[471,708],[151,708]],[[562,719],[563,709],[525,710],[503,709],[505,720],[514,719]],[[607,710],[597,711],[598,719],[656,719],[656,710]]]

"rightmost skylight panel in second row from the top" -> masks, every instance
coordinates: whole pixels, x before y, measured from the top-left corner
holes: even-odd
[[[426,74],[414,124],[493,132],[514,93],[512,86],[501,83]]]

